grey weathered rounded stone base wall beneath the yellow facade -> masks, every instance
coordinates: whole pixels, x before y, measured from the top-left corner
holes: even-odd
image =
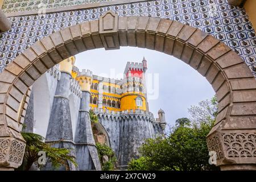
[[[143,119],[142,115],[132,114],[126,117],[100,117],[100,123],[105,127],[110,146],[115,151],[119,166],[126,166],[131,158],[138,155],[138,148],[147,138],[155,138],[152,121]],[[157,132],[157,131],[156,131]]]

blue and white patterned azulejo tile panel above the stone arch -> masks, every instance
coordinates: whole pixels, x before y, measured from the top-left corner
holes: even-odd
[[[94,9],[49,13],[46,16],[10,17],[13,23],[11,30],[0,34],[0,72],[37,40],[62,28],[98,19],[108,10],[115,11],[119,16],[153,16],[197,27],[236,51],[256,77],[255,30],[245,9],[230,6],[227,0],[138,1]]]

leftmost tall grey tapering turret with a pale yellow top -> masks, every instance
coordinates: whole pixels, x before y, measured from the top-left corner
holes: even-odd
[[[71,111],[69,106],[69,85],[71,82],[72,66],[75,63],[74,57],[63,60],[59,66],[61,71],[60,80],[57,82],[55,96],[53,98],[52,110],[46,134],[46,143],[52,143],[56,148],[71,149],[70,155],[75,157],[75,145],[73,143]],[[73,163],[67,161],[67,165],[61,166],[59,170],[76,170]],[[52,170],[52,165],[47,164],[47,170]]]

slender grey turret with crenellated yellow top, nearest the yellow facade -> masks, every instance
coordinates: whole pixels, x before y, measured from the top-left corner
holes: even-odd
[[[76,77],[82,90],[79,117],[77,119],[75,143],[76,159],[80,170],[101,170],[100,159],[93,138],[90,122],[90,86],[92,84],[92,72],[83,69]]]

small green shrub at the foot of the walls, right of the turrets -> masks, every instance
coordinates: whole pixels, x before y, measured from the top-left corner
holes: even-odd
[[[96,143],[96,147],[98,150],[98,156],[101,162],[101,168],[104,171],[112,171],[115,168],[115,163],[117,162],[117,158],[115,158],[115,152],[112,148],[106,146],[106,144]],[[104,156],[108,156],[108,161],[104,161]]]

